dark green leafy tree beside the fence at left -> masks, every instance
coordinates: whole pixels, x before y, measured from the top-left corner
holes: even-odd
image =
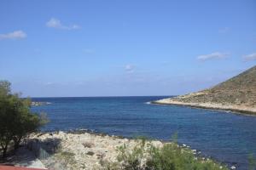
[[[47,122],[45,116],[32,113],[30,107],[30,99],[21,99],[20,94],[12,94],[10,82],[0,81],[0,144],[3,157],[11,142],[16,150],[21,139]]]

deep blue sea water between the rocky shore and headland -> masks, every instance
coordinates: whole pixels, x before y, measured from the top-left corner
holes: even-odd
[[[32,106],[50,122],[42,130],[88,128],[133,137],[145,135],[201,150],[203,156],[247,169],[247,156],[256,156],[256,116],[209,111],[174,105],[148,105],[157,97],[33,98],[50,105]]]

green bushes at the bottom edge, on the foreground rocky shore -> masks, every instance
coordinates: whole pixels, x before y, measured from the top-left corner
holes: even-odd
[[[167,143],[156,147],[152,142],[139,140],[131,149],[124,144],[118,148],[118,162],[105,162],[109,170],[218,170],[227,169],[212,160],[196,157],[188,148],[177,143]]]

